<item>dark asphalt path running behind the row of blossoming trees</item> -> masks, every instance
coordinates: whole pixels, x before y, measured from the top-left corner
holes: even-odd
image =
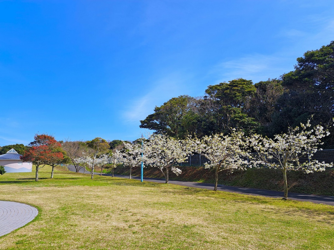
[[[75,168],[73,165],[69,166],[69,171],[75,172]],[[83,168],[80,169],[80,173],[83,173]],[[90,174],[89,171],[85,171],[86,174]],[[100,173],[94,172],[94,175],[100,175]],[[112,176],[112,174],[102,174],[104,176]],[[114,175],[115,177],[121,178],[129,178],[128,175]],[[139,176],[132,176],[132,179],[140,180]],[[165,183],[164,179],[159,178],[143,178],[145,181],[150,182],[158,182],[158,183]],[[194,188],[204,188],[204,189],[211,189],[213,190],[214,185],[210,183],[199,183],[199,182],[191,182],[191,181],[175,181],[169,180],[169,183],[181,185],[185,187],[194,187]],[[234,186],[226,186],[226,185],[218,185],[217,190],[231,192],[231,193],[238,193],[238,194],[247,194],[247,195],[256,195],[256,196],[265,196],[265,197],[272,197],[272,198],[282,198],[284,196],[284,192],[280,191],[273,191],[267,189],[257,189],[257,188],[245,188],[245,187],[234,187]],[[318,204],[327,204],[334,206],[334,197],[333,196],[325,196],[325,195],[315,195],[315,194],[302,194],[302,193],[288,193],[289,199],[291,200],[298,200],[298,201],[309,201]]]

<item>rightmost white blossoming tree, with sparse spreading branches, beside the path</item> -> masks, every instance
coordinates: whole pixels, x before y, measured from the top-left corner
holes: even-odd
[[[318,149],[318,145],[323,137],[328,136],[329,132],[320,125],[310,128],[310,121],[300,127],[289,127],[287,133],[275,135],[274,139],[255,134],[249,138],[249,144],[257,152],[253,155],[254,166],[264,166],[280,169],[284,180],[284,198],[288,199],[287,171],[304,171],[313,173],[324,171],[325,167],[332,164],[312,160],[313,154]]]

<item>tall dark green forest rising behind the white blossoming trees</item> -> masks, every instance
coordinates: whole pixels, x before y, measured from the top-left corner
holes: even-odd
[[[332,149],[334,41],[305,52],[294,68],[278,79],[254,84],[239,78],[208,86],[202,97],[174,97],[155,107],[140,127],[180,139],[188,134],[229,133],[231,128],[273,137],[313,116],[313,125],[330,130],[323,148]]]

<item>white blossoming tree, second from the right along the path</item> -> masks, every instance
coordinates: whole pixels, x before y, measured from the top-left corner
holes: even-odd
[[[205,168],[215,169],[214,189],[217,190],[218,173],[222,170],[233,172],[236,169],[244,170],[247,165],[244,150],[245,142],[243,133],[232,130],[230,135],[215,134],[202,138],[189,140],[192,143],[193,151],[204,155],[208,162],[204,163]]]

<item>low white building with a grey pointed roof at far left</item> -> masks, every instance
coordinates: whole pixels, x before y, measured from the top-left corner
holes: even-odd
[[[32,162],[22,161],[19,153],[13,148],[6,154],[0,155],[0,166],[5,167],[7,173],[31,172]]]

